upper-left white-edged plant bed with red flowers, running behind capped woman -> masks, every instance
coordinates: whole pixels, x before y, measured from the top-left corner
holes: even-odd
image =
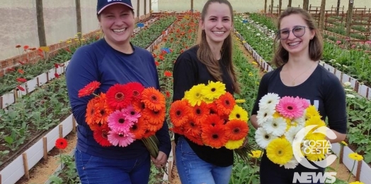
[[[157,17],[151,17],[144,20],[144,27],[136,27],[133,35],[138,34],[140,30],[147,29],[147,27],[157,19]],[[16,102],[17,98],[21,98],[24,95],[33,92],[37,87],[45,85],[45,83],[54,79],[56,75],[62,75],[76,48],[94,41],[96,41],[96,37],[93,37],[86,42],[81,41],[79,44],[74,44],[72,47],[62,49],[59,51],[59,54],[53,58],[45,59],[38,63],[20,62],[20,66],[13,68],[15,72],[8,73],[0,78],[0,82],[4,83],[4,85],[0,87],[0,109],[8,107]],[[27,82],[17,82],[20,78],[27,80]]]

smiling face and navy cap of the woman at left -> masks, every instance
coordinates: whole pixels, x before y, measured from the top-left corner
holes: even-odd
[[[105,8],[98,20],[108,44],[129,44],[134,30],[132,9],[122,4],[114,4]]]

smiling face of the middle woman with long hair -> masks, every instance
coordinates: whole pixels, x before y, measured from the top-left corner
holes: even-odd
[[[223,43],[231,32],[232,12],[227,4],[212,3],[200,23],[209,44]]]

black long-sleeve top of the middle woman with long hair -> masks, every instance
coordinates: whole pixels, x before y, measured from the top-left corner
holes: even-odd
[[[182,99],[184,92],[190,90],[193,85],[202,83],[207,85],[209,81],[217,81],[210,75],[205,64],[198,60],[197,51],[198,46],[192,47],[184,51],[176,59],[173,67],[173,101]],[[222,82],[226,86],[226,91],[234,94],[232,79],[227,73],[227,65],[222,60],[219,60],[219,64],[222,70]],[[176,134],[176,142],[179,136],[183,135]],[[208,146],[201,146],[188,140],[186,137],[185,139],[200,159],[215,166],[231,166],[233,164],[233,151],[231,149],[225,147],[215,149]]]

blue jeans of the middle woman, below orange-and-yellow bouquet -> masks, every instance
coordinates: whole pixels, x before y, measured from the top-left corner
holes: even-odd
[[[200,159],[183,136],[176,145],[176,168],[182,184],[228,184],[232,174],[232,166],[219,167]]]

